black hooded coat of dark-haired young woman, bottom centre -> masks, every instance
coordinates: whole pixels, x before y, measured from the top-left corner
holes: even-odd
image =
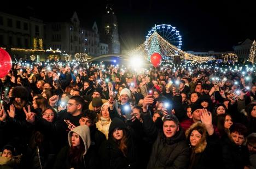
[[[112,132],[115,128],[120,128],[126,132],[126,155],[119,149],[119,144],[114,140]],[[99,155],[101,157],[102,168],[137,168],[137,153],[133,140],[132,132],[126,128],[125,123],[114,118],[109,127],[108,140],[104,141],[100,147]]]

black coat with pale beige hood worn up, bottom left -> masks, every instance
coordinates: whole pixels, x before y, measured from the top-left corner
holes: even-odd
[[[71,158],[69,156],[69,150],[72,148],[72,133],[75,132],[78,134],[83,142],[80,144],[84,144],[85,151],[83,153],[82,158],[79,162],[71,163]],[[98,158],[95,151],[90,149],[91,146],[91,137],[90,137],[90,129],[87,125],[80,125],[74,128],[73,130],[68,132],[68,143],[69,146],[66,146],[61,149],[60,153],[57,155],[54,168],[61,169],[69,169],[69,168],[98,168]]]

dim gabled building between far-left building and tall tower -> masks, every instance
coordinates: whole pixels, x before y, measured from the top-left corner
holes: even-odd
[[[69,55],[87,53],[90,56],[98,56],[100,35],[97,24],[94,22],[91,29],[84,28],[76,12],[69,21],[46,23],[45,46],[46,49],[59,49]]]

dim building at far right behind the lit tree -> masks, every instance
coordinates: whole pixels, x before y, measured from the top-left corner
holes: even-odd
[[[241,41],[237,45],[233,46],[233,49],[238,56],[238,59],[248,59],[252,43],[252,40],[246,39],[245,41]]]

